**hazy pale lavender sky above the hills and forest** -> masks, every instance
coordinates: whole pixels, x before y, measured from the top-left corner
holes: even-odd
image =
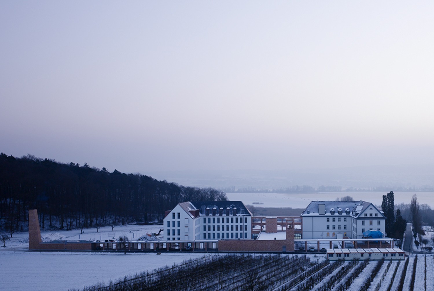
[[[434,163],[433,1],[0,1],[0,152],[144,174]]]

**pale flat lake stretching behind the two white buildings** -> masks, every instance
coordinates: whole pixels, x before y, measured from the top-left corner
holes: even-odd
[[[226,193],[229,200],[243,201],[246,205],[257,207],[291,207],[306,208],[312,200],[335,200],[343,196],[351,196],[354,200],[364,200],[381,205],[386,192],[327,192],[327,193]],[[394,192],[395,204],[409,204],[411,196],[416,194],[420,204],[428,204],[434,208],[434,192]],[[257,204],[261,203],[261,204]]]

